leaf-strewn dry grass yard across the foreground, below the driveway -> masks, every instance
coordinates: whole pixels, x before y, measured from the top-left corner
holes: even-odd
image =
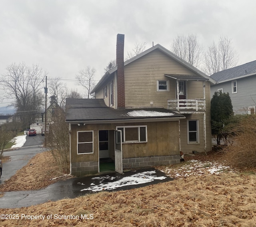
[[[0,226],[256,226],[253,171],[241,172],[229,167],[216,153],[185,156],[185,160],[178,165],[158,167],[174,177],[174,181],[128,191],[102,191],[31,207],[0,209],[4,217],[15,218],[0,220]],[[25,169],[32,165],[28,163]],[[60,175],[53,174],[54,171],[34,179],[40,179],[45,187],[52,182],[51,178]],[[12,185],[13,181],[10,182],[6,185]],[[39,188],[31,182],[29,187],[19,187]],[[10,190],[11,186],[4,188]],[[31,220],[32,217],[38,219]]]

